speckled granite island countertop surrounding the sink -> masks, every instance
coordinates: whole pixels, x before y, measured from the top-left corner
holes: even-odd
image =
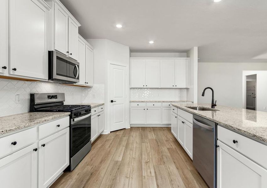
[[[215,109],[219,111],[197,111],[187,108],[186,106],[211,107],[211,104],[172,103],[172,105],[186,112],[196,114],[213,122],[219,123],[220,125],[231,129],[237,133],[243,134],[250,138],[264,142],[264,144],[267,144],[266,112],[226,107],[220,105],[217,105],[215,107]]]

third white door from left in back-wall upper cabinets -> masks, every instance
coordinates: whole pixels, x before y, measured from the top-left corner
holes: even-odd
[[[160,87],[175,86],[174,60],[160,60]]]

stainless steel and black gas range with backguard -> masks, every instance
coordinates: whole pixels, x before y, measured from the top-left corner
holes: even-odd
[[[31,93],[31,112],[70,112],[70,166],[73,170],[91,150],[91,106],[64,105],[64,93]]]

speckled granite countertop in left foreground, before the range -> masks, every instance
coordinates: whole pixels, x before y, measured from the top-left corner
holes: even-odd
[[[70,112],[26,112],[0,117],[0,136],[70,115]]]

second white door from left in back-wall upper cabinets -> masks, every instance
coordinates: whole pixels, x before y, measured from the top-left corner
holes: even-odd
[[[146,60],[146,87],[159,87],[159,60]]]

